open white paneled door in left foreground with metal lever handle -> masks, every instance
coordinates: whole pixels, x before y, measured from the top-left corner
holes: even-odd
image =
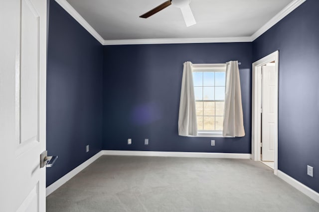
[[[45,212],[46,9],[46,0],[1,1],[1,212]]]

